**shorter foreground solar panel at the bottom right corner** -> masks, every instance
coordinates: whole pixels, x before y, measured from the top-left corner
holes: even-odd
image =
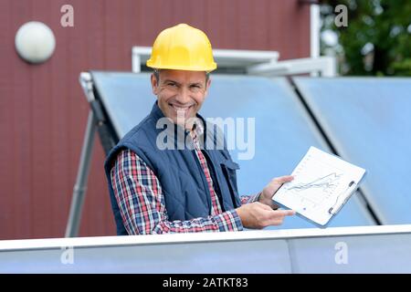
[[[409,273],[411,235],[291,239],[293,273]],[[395,253],[401,251],[400,256]],[[383,259],[384,260],[379,260]],[[408,271],[408,272],[407,272]]]

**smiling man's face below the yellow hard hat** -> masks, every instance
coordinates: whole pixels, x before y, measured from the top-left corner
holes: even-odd
[[[194,118],[205,100],[211,80],[205,81],[205,72],[162,69],[159,80],[152,75],[153,94],[164,116],[174,123]]]

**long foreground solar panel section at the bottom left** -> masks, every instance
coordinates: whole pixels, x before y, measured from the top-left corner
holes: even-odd
[[[261,252],[269,248],[275,252]],[[245,250],[247,256],[239,256]],[[73,265],[62,264],[63,253],[61,248],[0,250],[0,273],[267,273],[268,266],[272,273],[290,273],[285,240],[80,247],[72,250]]]

